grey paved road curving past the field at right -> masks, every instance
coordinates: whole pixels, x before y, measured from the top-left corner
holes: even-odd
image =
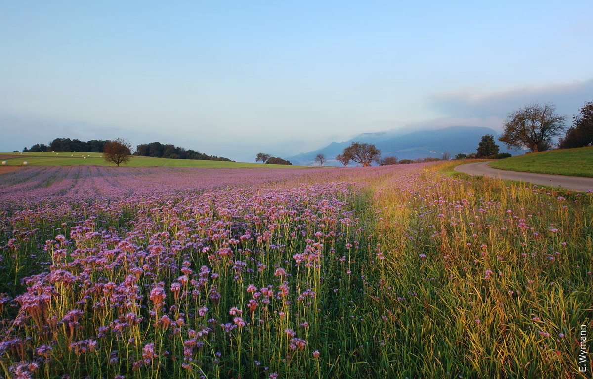
[[[531,182],[533,184],[551,185],[570,189],[572,191],[586,192],[593,191],[593,178],[582,178],[581,176],[532,174],[531,172],[518,172],[499,170],[488,166],[488,162],[468,163],[455,167],[455,171],[464,172],[470,175],[484,175],[489,178],[499,178]]]

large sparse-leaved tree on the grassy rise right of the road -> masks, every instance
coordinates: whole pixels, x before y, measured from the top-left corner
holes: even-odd
[[[525,105],[508,115],[499,141],[509,149],[528,147],[537,153],[541,143],[551,143],[553,137],[565,130],[565,121],[566,117],[556,114],[556,105],[551,102]]]

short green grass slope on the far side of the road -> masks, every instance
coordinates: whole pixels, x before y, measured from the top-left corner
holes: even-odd
[[[593,177],[593,146],[519,155],[496,160],[490,166],[538,174]]]

